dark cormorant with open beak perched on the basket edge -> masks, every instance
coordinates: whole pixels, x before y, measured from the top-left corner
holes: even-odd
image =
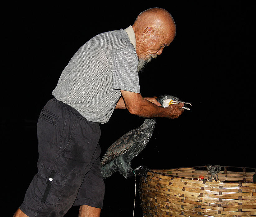
[[[172,95],[161,95],[156,100],[164,108],[170,104],[190,104]],[[182,108],[189,110],[187,107]],[[108,148],[100,162],[103,179],[108,178],[115,171],[119,171],[125,178],[134,176],[134,174],[146,176],[145,179],[147,178],[147,167],[141,165],[133,170],[131,160],[145,148],[151,138],[155,125],[155,118],[145,119],[141,126],[129,131]]]

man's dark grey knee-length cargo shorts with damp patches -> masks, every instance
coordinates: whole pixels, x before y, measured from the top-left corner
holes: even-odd
[[[102,208],[99,123],[54,98],[40,113],[37,134],[39,171],[21,211],[30,217],[59,217],[72,205]]]

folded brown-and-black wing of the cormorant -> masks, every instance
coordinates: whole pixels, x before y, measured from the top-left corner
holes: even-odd
[[[106,151],[103,156],[100,165],[103,167],[109,162],[113,161],[115,158],[120,155],[128,152],[128,150],[133,146],[134,141],[137,139],[137,135],[140,134],[140,130],[138,128],[129,131],[125,135],[121,136],[118,140],[116,140]]]

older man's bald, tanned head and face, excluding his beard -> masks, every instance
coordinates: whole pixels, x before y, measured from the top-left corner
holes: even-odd
[[[168,11],[150,8],[137,16],[133,24],[139,59],[160,55],[176,34],[175,22]]]

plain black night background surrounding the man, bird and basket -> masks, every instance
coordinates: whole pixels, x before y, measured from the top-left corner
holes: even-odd
[[[168,2],[168,3],[165,3]],[[121,5],[119,5],[121,4]],[[142,96],[171,94],[192,103],[175,120],[157,118],[133,168],[255,167],[255,79],[252,5],[241,1],[11,2],[3,6],[2,174],[12,216],[37,172],[36,122],[72,55],[96,34],[125,29],[151,7],[168,10],[175,40],[139,75]],[[101,125],[102,156],[143,118],[114,111]],[[137,178],[137,184],[139,179]],[[101,216],[132,216],[135,179],[105,179]],[[138,189],[138,185],[137,185]],[[142,216],[138,190],[135,216]],[[11,204],[11,206],[10,206]],[[77,216],[72,207],[68,216]]]

